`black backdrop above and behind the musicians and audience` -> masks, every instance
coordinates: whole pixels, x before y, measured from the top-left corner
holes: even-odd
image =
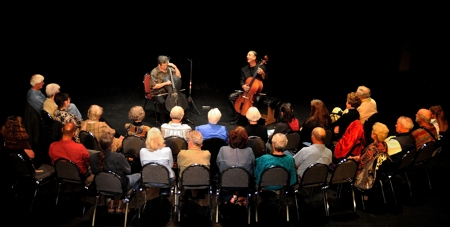
[[[186,89],[192,69],[194,98],[197,89],[230,93],[249,50],[269,57],[264,91],[301,105],[344,107],[359,85],[397,116],[447,101],[442,6],[180,4],[2,7],[2,119],[23,113],[33,74],[76,100],[100,87],[141,89],[158,55],[171,57]]]

